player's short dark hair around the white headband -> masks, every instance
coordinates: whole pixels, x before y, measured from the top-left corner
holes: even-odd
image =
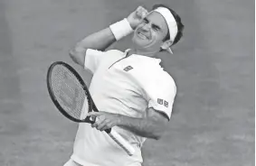
[[[175,43],[179,42],[181,37],[183,36],[184,24],[181,22],[180,16],[178,14],[176,14],[175,11],[173,9],[171,9],[170,7],[168,7],[167,5],[153,5],[153,10],[155,10],[158,7],[165,7],[166,9],[168,9],[171,12],[171,14],[174,15],[175,22],[177,23],[177,33],[176,33],[175,40],[173,41],[172,45],[175,45]],[[170,40],[169,31],[167,32],[167,35],[163,41],[167,41],[167,40]]]

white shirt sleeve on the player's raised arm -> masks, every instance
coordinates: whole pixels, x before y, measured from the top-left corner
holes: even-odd
[[[84,68],[90,69],[90,71],[94,73],[98,69],[100,60],[102,59],[102,56],[104,56],[104,53],[104,51],[87,49],[84,60]]]

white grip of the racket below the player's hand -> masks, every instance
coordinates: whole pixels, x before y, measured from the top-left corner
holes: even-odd
[[[108,133],[109,136],[119,144],[123,150],[125,150],[129,156],[132,156],[135,152],[134,148],[130,143],[128,143],[120,134],[118,134],[115,130],[111,130],[110,133]]]

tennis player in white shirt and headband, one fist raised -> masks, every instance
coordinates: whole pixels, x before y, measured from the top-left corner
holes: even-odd
[[[90,69],[90,94],[100,112],[94,124],[80,124],[71,160],[65,166],[140,166],[141,147],[147,138],[160,139],[172,114],[174,79],[159,65],[159,51],[182,37],[180,17],[166,5],[149,13],[141,6],[118,23],[78,42],[71,59]],[[127,51],[106,49],[134,32]],[[115,129],[136,150],[129,156],[105,129]]]

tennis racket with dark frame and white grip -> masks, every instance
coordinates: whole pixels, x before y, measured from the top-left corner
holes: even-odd
[[[53,62],[47,72],[47,88],[52,102],[62,115],[73,122],[90,123],[95,118],[87,116],[91,111],[99,112],[94,105],[90,92],[78,72],[69,64]],[[123,148],[128,155],[133,155],[135,150],[123,137],[113,129],[105,130],[107,134]]]

